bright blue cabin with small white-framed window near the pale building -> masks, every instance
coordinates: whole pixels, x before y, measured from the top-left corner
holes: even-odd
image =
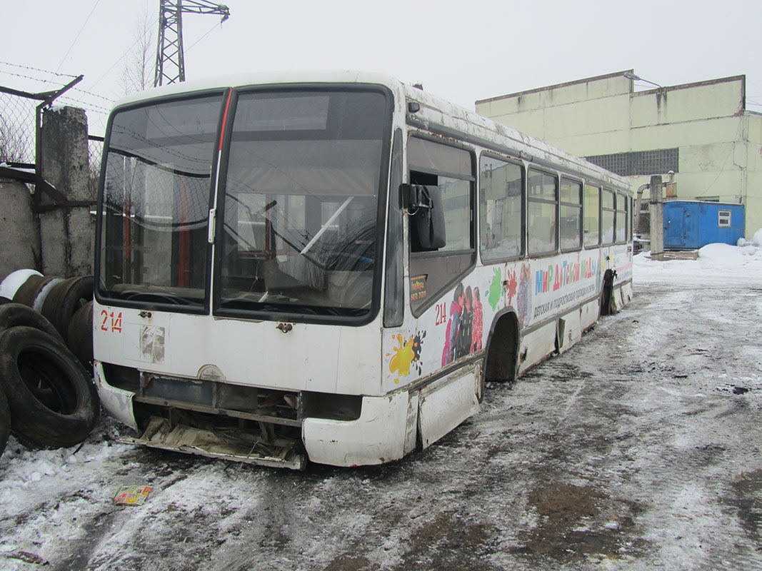
[[[738,243],[744,237],[744,205],[700,200],[664,203],[664,250],[698,250],[706,244]]]

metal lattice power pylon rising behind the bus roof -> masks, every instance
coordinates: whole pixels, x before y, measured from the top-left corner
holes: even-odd
[[[230,17],[230,8],[207,0],[158,0],[158,42],[153,85],[185,81],[183,13],[218,14],[220,23]]]

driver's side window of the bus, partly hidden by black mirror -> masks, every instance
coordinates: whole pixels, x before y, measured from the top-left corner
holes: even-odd
[[[418,137],[408,141],[409,182],[441,191],[446,244],[424,251],[410,231],[410,307],[418,317],[475,263],[472,154]],[[408,216],[408,223],[411,223]],[[411,228],[408,228],[411,230]],[[445,260],[446,263],[443,263]]]

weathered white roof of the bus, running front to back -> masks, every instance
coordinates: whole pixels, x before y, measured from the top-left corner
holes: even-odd
[[[495,152],[514,155],[530,163],[559,168],[570,174],[577,174],[579,177],[608,184],[619,190],[632,190],[630,181],[625,177],[620,177],[620,175],[607,171],[597,164],[548,145],[510,126],[497,123],[475,113],[475,111],[450,103],[442,97],[437,97],[412,85],[406,85],[392,75],[382,73],[353,70],[307,70],[223,75],[140,91],[118,100],[116,107],[155,97],[187,94],[216,88],[317,83],[384,85],[395,94],[395,101],[399,110],[407,113],[408,125],[437,132],[440,136],[452,136],[453,139],[472,142],[475,145],[491,148]],[[410,101],[417,102],[420,105],[420,110],[408,112],[402,108],[403,101],[405,105]]]

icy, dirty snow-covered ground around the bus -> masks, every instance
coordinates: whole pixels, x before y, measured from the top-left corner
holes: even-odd
[[[762,569],[758,234],[640,254],[623,311],[394,464],[228,464],[107,418],[78,448],[11,438],[0,569]]]

